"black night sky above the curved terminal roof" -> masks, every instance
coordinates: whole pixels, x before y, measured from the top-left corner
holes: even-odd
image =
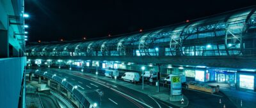
[[[139,32],[236,10],[256,0],[25,0],[29,41],[82,40]]]

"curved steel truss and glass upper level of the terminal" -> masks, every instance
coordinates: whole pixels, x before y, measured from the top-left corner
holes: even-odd
[[[31,44],[27,56],[256,55],[256,7],[137,34],[58,44]]]

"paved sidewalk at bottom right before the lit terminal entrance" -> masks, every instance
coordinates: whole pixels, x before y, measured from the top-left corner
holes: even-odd
[[[255,91],[238,91],[230,89],[230,86],[225,83],[207,83],[210,86],[220,86],[220,91],[237,106],[241,107],[256,107],[256,92]]]

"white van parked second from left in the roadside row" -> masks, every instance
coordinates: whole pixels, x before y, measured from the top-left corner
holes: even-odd
[[[137,72],[125,72],[124,75],[122,76],[122,80],[124,81],[140,81],[140,74]]]

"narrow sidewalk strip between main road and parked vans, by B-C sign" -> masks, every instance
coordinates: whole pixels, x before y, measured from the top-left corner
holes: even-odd
[[[157,92],[157,86],[152,86],[152,85],[148,85],[148,84],[144,84],[144,90],[142,90],[142,85],[141,84],[134,84],[134,83],[129,83],[126,81],[120,81],[118,79],[111,79],[108,78],[106,76],[96,76],[95,74],[90,74],[90,73],[81,73],[81,72],[76,72],[77,74],[83,74],[83,75],[87,75],[87,76],[92,76],[95,79],[102,79],[104,81],[109,81],[111,83],[115,83],[118,84],[120,86],[124,86],[126,88],[130,88],[132,90],[136,90],[139,91],[141,93],[147,94],[150,97],[154,97],[157,98],[159,100],[162,100],[168,104],[172,104],[175,105],[177,107],[186,107],[188,106],[189,102],[188,102],[188,98],[186,98],[186,96],[184,96],[184,104],[180,104],[180,102],[171,102],[170,101],[170,90],[168,88],[164,88],[162,86],[160,86],[159,92]]]

